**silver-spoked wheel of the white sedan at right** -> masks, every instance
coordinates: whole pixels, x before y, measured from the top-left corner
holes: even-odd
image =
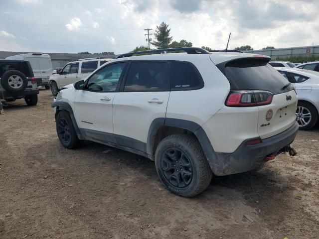
[[[318,112],[313,105],[307,102],[298,102],[296,120],[300,129],[311,129],[318,121]]]

